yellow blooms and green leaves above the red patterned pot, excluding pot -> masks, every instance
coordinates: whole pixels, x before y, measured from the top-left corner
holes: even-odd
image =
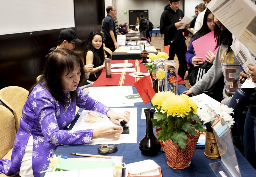
[[[156,93],[151,101],[157,109],[157,118],[151,120],[157,129],[158,141],[172,140],[185,150],[188,135],[197,137],[196,130],[206,131],[196,115],[197,104],[187,95],[164,91]]]

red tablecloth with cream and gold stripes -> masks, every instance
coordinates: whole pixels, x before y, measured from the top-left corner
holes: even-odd
[[[111,60],[111,64],[115,63],[132,63],[136,72],[147,72],[147,69],[141,60]],[[133,85],[134,82],[138,81],[140,78],[132,77],[129,75],[130,72],[122,72],[122,74],[112,74],[111,78],[106,78],[106,70],[103,69],[100,77],[93,83],[91,87],[98,86],[123,86],[123,85]],[[149,80],[150,76],[147,76]],[[182,78],[178,76],[178,83],[185,83]]]

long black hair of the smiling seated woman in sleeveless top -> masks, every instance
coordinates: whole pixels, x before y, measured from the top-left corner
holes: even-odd
[[[104,62],[104,49],[103,49],[103,42],[99,49],[95,49],[92,46],[92,40],[95,35],[100,35],[102,38],[102,35],[98,33],[97,31],[92,31],[88,37],[87,46],[86,46],[86,53],[84,56],[84,65],[86,65],[86,54],[89,50],[93,52],[93,63],[94,65],[100,65]],[[103,39],[103,38],[102,38]]]

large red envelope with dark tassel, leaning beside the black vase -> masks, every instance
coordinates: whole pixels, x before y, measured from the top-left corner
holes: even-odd
[[[135,86],[136,90],[140,94],[144,104],[151,102],[151,99],[156,94],[156,92],[154,91],[154,89],[151,85],[151,82],[147,79],[146,76],[144,76],[140,80],[134,82],[133,85]],[[147,93],[148,93],[150,99],[148,98]]]

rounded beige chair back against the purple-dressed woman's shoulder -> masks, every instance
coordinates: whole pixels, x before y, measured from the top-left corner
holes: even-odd
[[[0,101],[13,111],[16,132],[28,94],[25,88],[18,86],[9,86],[0,90]]]

